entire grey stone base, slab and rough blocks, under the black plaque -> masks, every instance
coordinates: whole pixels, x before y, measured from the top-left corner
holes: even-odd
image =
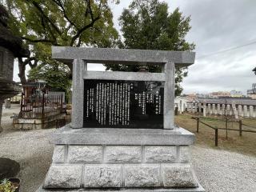
[[[136,131],[138,140],[134,140]],[[181,140],[172,139],[177,135]],[[55,136],[53,162],[43,183],[45,191],[203,191],[196,190],[200,185],[190,164],[193,134],[183,129],[64,129]],[[74,140],[75,136],[82,140]],[[161,142],[155,141],[161,137]]]

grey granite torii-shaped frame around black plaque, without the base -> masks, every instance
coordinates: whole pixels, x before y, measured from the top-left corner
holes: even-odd
[[[163,127],[174,129],[174,66],[190,66],[195,53],[53,46],[52,56],[60,62],[73,63],[72,128],[83,126],[84,80],[102,79],[165,82]],[[162,73],[88,71],[87,63],[160,65]]]

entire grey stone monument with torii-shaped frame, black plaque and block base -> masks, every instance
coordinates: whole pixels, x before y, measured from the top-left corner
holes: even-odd
[[[53,47],[73,62],[72,122],[52,134],[38,191],[204,191],[190,163],[194,134],[174,126],[174,66],[195,54]],[[162,73],[88,71],[87,63],[160,65]]]

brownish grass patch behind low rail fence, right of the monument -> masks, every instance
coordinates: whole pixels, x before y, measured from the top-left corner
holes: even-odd
[[[230,150],[238,152],[240,154],[247,154],[256,156],[256,133],[246,133],[242,132],[242,137],[239,136],[238,131],[227,131],[226,139],[226,130],[218,130],[218,147],[214,146],[215,133],[214,130],[208,126],[199,124],[199,133],[196,132],[196,120],[192,119],[193,115],[191,114],[179,114],[175,116],[175,123],[178,126],[190,130],[196,136],[196,145],[212,147],[219,150]],[[225,123],[222,118],[207,117],[202,118],[202,122],[206,122],[213,127],[225,128]],[[256,119],[243,119],[243,124],[248,126],[256,126]],[[239,129],[238,122],[229,122],[228,128],[230,129]],[[256,129],[242,126],[243,130],[254,130]]]

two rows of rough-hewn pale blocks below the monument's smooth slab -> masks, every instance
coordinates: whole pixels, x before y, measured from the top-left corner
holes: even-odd
[[[197,187],[189,146],[54,147],[45,188]]]

